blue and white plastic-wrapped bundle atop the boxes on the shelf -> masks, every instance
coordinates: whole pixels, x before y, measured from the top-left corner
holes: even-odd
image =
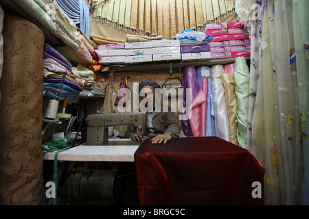
[[[207,36],[204,32],[185,29],[179,34],[176,34],[181,46],[194,46],[208,44],[211,36]]]

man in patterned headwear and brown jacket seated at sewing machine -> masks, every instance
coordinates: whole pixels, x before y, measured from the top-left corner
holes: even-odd
[[[145,94],[141,96],[141,103],[144,104],[141,104],[143,109],[140,110],[146,112],[147,131],[144,136],[141,136],[140,133],[136,132],[134,125],[128,125],[128,133],[133,141],[143,141],[151,138],[152,144],[166,144],[173,138],[179,138],[181,128],[174,112],[171,112],[170,107],[168,107],[168,112],[162,112],[162,107],[155,105],[155,100],[158,97],[155,88],[161,87],[157,82],[150,79],[139,83],[139,93],[142,91],[141,93]],[[160,107],[160,112],[156,112],[155,107]]]

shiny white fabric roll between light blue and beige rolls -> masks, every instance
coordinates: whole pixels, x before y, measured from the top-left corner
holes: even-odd
[[[216,110],[216,131],[218,137],[229,142],[229,120],[227,118],[227,107],[225,105],[225,91],[220,75],[225,71],[222,65],[211,66],[213,75],[212,92],[214,95],[214,106]]]

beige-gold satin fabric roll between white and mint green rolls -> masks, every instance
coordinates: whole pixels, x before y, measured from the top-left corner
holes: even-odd
[[[220,77],[225,90],[225,105],[227,106],[227,118],[229,119],[229,141],[238,145],[236,123],[237,99],[234,93],[234,75],[227,73],[220,75]]]

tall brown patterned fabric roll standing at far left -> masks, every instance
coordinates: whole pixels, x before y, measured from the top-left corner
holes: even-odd
[[[5,14],[0,81],[0,205],[43,205],[43,45],[34,24]]]

